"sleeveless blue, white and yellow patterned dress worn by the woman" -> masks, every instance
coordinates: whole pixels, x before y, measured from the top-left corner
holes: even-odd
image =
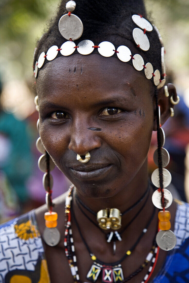
[[[153,283],[189,283],[189,205],[186,203],[177,204],[174,232],[177,245],[167,252]],[[0,226],[0,283],[9,282],[50,283],[34,211]]]

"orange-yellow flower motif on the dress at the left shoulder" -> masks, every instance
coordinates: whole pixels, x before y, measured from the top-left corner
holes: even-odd
[[[19,225],[15,224],[14,229],[16,235],[22,240],[28,240],[29,238],[33,239],[40,236],[36,226],[31,224],[30,220]]]

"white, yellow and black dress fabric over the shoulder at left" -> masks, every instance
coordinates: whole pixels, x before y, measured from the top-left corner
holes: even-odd
[[[50,282],[34,211],[0,225],[0,282],[38,282],[42,272]]]

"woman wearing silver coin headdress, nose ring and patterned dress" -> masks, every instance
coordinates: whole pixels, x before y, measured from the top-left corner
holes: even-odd
[[[74,10],[69,2],[65,11],[66,2],[60,3],[34,54],[37,146],[47,152],[39,167],[46,171],[49,212],[45,205],[1,227],[1,278],[11,283],[188,282],[188,205],[173,202],[170,213],[164,212],[171,197],[163,189],[169,173],[162,168],[161,125],[179,98],[172,84],[163,86],[162,39],[146,22],[143,1],[76,4]],[[147,168],[152,130],[158,131],[155,201]],[[53,201],[54,207],[51,158],[75,185]],[[161,250],[155,241],[156,206],[163,209]]]

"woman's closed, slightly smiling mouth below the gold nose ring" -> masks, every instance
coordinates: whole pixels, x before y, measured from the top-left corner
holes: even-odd
[[[72,166],[69,169],[79,179],[97,180],[109,174],[112,167],[112,164],[88,164],[85,166]]]

